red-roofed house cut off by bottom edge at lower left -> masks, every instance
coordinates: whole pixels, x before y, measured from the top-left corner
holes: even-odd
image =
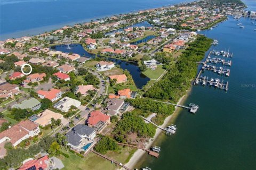
[[[33,160],[32,158],[29,158],[23,162],[23,165],[18,170],[27,170],[27,169],[35,169],[35,170],[41,170],[41,169],[48,169],[50,168],[50,161],[48,156],[43,156],[41,158]]]

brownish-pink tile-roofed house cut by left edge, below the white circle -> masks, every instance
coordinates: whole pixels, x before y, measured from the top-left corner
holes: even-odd
[[[0,86],[0,98],[9,98],[20,93],[19,86],[4,82]]]

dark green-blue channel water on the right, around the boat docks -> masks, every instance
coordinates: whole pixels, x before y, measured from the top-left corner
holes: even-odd
[[[255,9],[255,1],[245,1]],[[245,28],[236,24],[241,22]],[[162,135],[158,159],[145,155],[137,167],[151,169],[255,169],[256,167],[256,25],[252,20],[230,18],[201,33],[218,39],[211,49],[233,52],[230,77],[208,71],[204,75],[229,81],[227,92],[193,86],[185,101],[199,105],[193,115],[182,110],[173,137]]]

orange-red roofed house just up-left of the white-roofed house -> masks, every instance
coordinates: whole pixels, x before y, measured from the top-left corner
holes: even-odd
[[[38,97],[40,97],[42,99],[44,99],[44,98],[49,99],[52,102],[61,98],[62,94],[63,94],[63,92],[58,89],[51,89],[50,91],[44,91],[44,90],[37,91]]]

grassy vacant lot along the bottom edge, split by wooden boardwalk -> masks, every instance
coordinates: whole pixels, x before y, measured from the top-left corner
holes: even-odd
[[[62,149],[63,152],[67,153],[65,150]],[[131,156],[134,154],[135,149],[132,148],[122,148],[118,151],[109,151],[106,155],[117,160],[121,163],[127,163]],[[63,170],[66,169],[95,169],[95,170],[102,170],[102,169],[116,169],[117,166],[115,164],[111,164],[110,161],[101,158],[98,155],[93,154],[90,152],[85,158],[80,158],[71,152],[67,153],[69,158],[61,157],[62,163],[65,165]]]

